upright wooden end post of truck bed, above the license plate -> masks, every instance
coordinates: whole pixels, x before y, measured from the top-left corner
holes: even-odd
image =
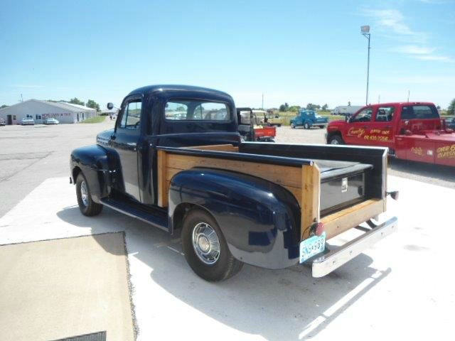
[[[319,222],[321,205],[321,171],[314,163],[313,166],[304,165],[301,168],[301,240],[310,235],[310,227]]]

